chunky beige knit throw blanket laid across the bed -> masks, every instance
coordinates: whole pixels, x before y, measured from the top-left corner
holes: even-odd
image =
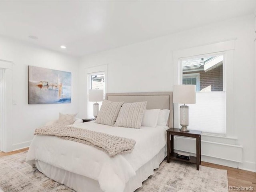
[[[108,156],[132,152],[135,140],[102,132],[70,127],[61,124],[43,126],[35,130],[36,135],[52,135],[65,140],[83,143],[104,151]]]

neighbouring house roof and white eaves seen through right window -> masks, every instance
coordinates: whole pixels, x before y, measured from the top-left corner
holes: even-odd
[[[182,70],[184,72],[189,71],[209,71],[213,68],[216,68],[220,64],[222,64],[223,56],[213,56],[213,57],[205,57],[203,58],[196,58],[196,59],[188,59],[182,61]]]

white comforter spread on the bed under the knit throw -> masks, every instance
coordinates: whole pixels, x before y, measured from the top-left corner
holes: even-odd
[[[73,125],[97,132],[136,140],[130,154],[109,157],[92,146],[55,136],[36,135],[30,145],[26,162],[31,166],[34,160],[80,174],[100,184],[105,192],[122,192],[126,182],[136,170],[151,160],[166,144],[167,126],[141,127],[141,129],[112,127],[94,122]]]

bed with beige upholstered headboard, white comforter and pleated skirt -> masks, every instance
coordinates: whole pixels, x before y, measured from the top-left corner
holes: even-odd
[[[169,109],[167,125],[172,126],[172,92],[106,94],[106,100],[126,103],[147,101],[147,109]],[[136,140],[131,153],[109,157],[92,146],[54,136],[36,135],[26,162],[77,192],[133,192],[166,157],[168,126],[134,129],[94,122],[72,126]]]

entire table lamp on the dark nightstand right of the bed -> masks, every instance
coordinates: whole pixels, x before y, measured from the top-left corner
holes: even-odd
[[[189,107],[185,104],[196,103],[196,85],[174,85],[173,103],[182,103],[180,106],[180,131],[189,131]]]

